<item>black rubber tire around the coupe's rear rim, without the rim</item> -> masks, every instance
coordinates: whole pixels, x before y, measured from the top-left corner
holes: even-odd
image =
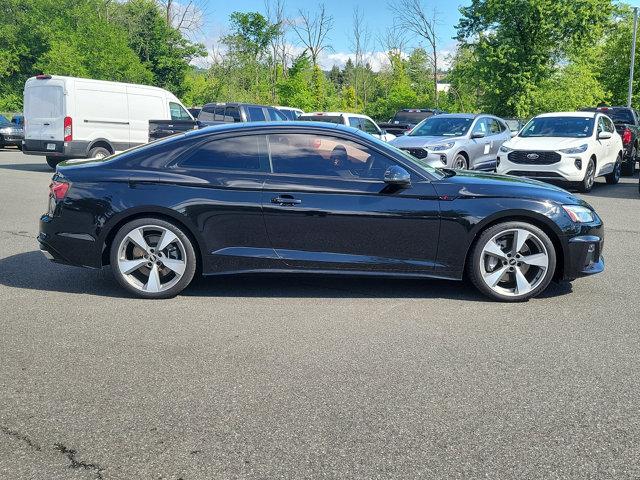
[[[125,275],[120,271],[120,268],[118,267],[119,249],[121,243],[129,233],[140,227],[151,227],[152,229],[154,226],[171,231],[179,239],[179,241],[182,242],[182,245],[184,246],[184,261],[186,263],[186,266],[184,272],[182,273],[182,276],[173,286],[167,288],[166,290],[158,292],[147,292],[143,291],[140,287],[136,287],[132,283],[130,283]],[[156,252],[156,254],[158,254],[158,252]],[[116,281],[125,290],[141,298],[160,299],[175,297],[191,283],[191,280],[193,280],[193,276],[196,272],[197,257],[193,244],[191,243],[189,237],[185,232],[182,231],[181,228],[177,227],[173,223],[167,222],[165,220],[160,220],[158,218],[139,218],[123,225],[118,230],[118,233],[113,239],[109,258],[111,261],[111,270],[113,271],[113,276],[115,277]],[[158,255],[158,258],[160,258],[160,255]],[[142,266],[141,268],[145,267]]]

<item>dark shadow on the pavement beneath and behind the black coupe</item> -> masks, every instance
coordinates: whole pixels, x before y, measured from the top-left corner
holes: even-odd
[[[131,298],[109,268],[91,270],[60,265],[38,251],[0,259],[0,285],[62,293]],[[542,298],[565,295],[570,284],[554,284]],[[198,277],[181,296],[283,298],[442,298],[489,301],[469,282],[304,274],[253,274]]]

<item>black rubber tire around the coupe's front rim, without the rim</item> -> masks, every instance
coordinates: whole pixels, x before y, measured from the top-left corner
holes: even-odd
[[[508,232],[510,230],[526,230],[530,232],[537,238],[537,240],[539,240],[544,245],[544,248],[546,249],[548,267],[544,272],[541,270],[540,277],[537,280],[537,282],[539,283],[537,283],[535,288],[523,295],[502,294],[489,287],[483,278],[482,262],[484,261],[483,251],[485,246],[496,235],[500,235],[501,232]],[[499,223],[487,228],[477,238],[474,246],[472,247],[471,253],[469,255],[469,260],[467,262],[467,275],[471,282],[475,285],[475,287],[489,298],[502,302],[524,302],[539,295],[549,286],[549,283],[551,282],[551,280],[553,279],[553,275],[555,274],[556,258],[556,251],[553,242],[551,241],[549,236],[540,228],[526,222]]]

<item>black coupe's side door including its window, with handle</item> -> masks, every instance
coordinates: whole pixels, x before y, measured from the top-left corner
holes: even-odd
[[[274,133],[268,143],[264,218],[287,266],[433,269],[440,219],[428,180],[413,172],[409,188],[391,188],[383,177],[397,161],[339,134]]]

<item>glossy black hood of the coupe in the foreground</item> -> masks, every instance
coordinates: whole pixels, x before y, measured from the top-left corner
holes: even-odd
[[[434,182],[439,195],[528,198],[540,202],[591,206],[566,190],[528,178],[474,171],[443,170],[448,176]]]

